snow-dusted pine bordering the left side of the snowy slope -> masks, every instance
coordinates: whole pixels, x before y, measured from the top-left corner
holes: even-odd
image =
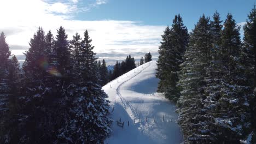
[[[103,143],[110,134],[111,120],[109,115],[109,101],[107,94],[101,89],[100,79],[97,77],[98,63],[96,63],[94,48],[90,43],[88,31],[85,31],[82,43],[82,56],[80,61],[81,75],[72,79],[68,95],[69,116],[65,127],[59,135],[61,142],[65,143]],[[77,75],[73,71],[72,75]],[[94,77],[92,79],[91,77]]]

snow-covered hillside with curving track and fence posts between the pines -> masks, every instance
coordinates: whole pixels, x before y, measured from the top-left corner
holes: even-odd
[[[159,80],[155,78],[155,69],[155,61],[143,64],[103,87],[111,101],[111,111],[114,107],[113,133],[105,143],[182,142],[175,106],[156,93]],[[120,118],[124,129],[117,125]]]

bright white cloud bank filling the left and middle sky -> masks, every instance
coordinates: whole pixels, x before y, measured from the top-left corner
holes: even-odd
[[[97,0],[98,5],[107,1]],[[15,3],[15,4],[14,4]],[[80,21],[73,20],[73,11],[77,8],[78,1],[61,3],[41,0],[8,0],[0,1],[0,31],[7,35],[7,42],[14,46],[12,52],[21,55],[28,49],[28,42],[33,37],[39,26],[45,33],[51,29],[56,34],[56,29],[63,26],[72,38],[75,32],[82,37],[85,29],[88,29],[92,38],[92,45],[96,53],[136,53],[158,51],[159,41],[165,26],[148,26],[134,21]],[[21,47],[18,50],[18,47]],[[27,47],[27,49],[26,49]],[[115,58],[117,57],[115,56]],[[135,58],[139,58],[141,53]],[[102,56],[104,57],[104,56]],[[106,56],[107,57],[107,56]],[[121,58],[124,56],[120,55]]]

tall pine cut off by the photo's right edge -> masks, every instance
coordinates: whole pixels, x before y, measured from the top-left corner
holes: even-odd
[[[252,143],[256,143],[256,5],[247,16],[246,24],[243,27],[243,65],[247,68],[247,77],[254,89],[254,98],[250,103],[251,122],[253,126]]]

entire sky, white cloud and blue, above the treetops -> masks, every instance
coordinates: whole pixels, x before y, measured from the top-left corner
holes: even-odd
[[[191,31],[204,13],[218,10],[222,18],[232,13],[242,25],[255,0],[1,0],[0,31],[7,35],[11,52],[20,61],[22,52],[39,26],[56,34],[63,26],[72,38],[88,29],[97,56],[113,63],[131,54],[157,57],[161,34],[181,14]]]

